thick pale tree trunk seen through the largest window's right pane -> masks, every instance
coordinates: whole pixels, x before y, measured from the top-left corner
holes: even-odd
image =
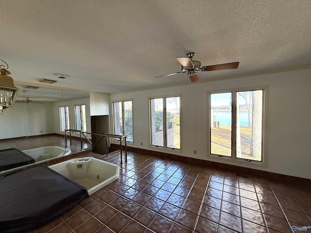
[[[262,125],[262,91],[253,91],[252,98],[252,135],[250,156],[255,158],[261,154]]]

